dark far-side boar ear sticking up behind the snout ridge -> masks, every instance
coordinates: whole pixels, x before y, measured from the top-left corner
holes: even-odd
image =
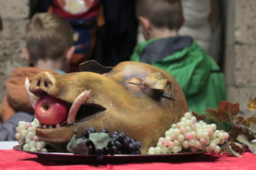
[[[113,67],[104,67],[101,66],[97,61],[95,60],[90,60],[83,62],[79,65],[80,71],[88,71],[88,72],[94,72],[94,73],[108,73],[110,70],[113,69]]]

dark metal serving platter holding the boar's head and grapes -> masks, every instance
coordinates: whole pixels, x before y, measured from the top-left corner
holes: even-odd
[[[13,149],[29,154],[37,155],[38,158],[45,161],[54,161],[65,164],[107,164],[107,163],[136,163],[136,162],[173,162],[185,161],[194,158],[195,156],[206,153],[203,152],[186,152],[186,153],[171,153],[171,154],[140,154],[140,155],[104,155],[102,161],[98,161],[92,155],[84,156],[73,153],[59,152],[32,152],[24,151],[21,145],[14,146]]]

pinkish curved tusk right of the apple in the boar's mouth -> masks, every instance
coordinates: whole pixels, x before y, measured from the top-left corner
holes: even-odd
[[[68,113],[67,125],[74,123],[78,109],[80,108],[81,104],[86,103],[90,98],[91,91],[92,90],[86,90],[75,99]]]

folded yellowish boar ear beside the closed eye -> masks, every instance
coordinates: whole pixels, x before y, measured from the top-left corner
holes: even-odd
[[[163,73],[156,72],[148,75],[144,80],[144,84],[151,89],[157,90],[162,97],[174,99],[172,85],[170,81],[165,78]]]

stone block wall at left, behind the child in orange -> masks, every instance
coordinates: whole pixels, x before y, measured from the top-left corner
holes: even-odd
[[[29,13],[28,0],[0,0],[3,31],[0,33],[0,102],[5,82],[14,68],[27,66],[22,55],[24,34]]]

